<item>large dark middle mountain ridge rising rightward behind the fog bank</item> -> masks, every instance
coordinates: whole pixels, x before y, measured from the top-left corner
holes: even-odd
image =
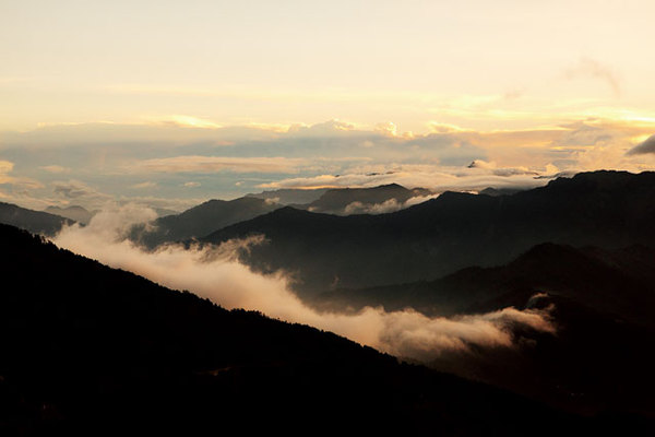
[[[655,173],[582,173],[511,196],[444,192],[390,214],[335,216],[282,208],[215,232],[210,244],[253,234],[240,258],[284,270],[300,295],[433,280],[498,265],[541,243],[655,246]]]

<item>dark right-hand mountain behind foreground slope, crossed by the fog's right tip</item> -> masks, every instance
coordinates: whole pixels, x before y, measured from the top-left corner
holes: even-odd
[[[539,296],[537,298],[533,296]],[[523,333],[519,350],[486,350],[432,366],[580,412],[655,416],[655,250],[544,244],[504,267],[467,268],[437,281],[325,293],[323,309],[382,305],[430,316],[553,305],[553,336]]]

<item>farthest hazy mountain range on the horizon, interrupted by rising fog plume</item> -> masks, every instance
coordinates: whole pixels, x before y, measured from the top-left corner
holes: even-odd
[[[210,200],[182,213],[157,209],[156,212],[159,215],[157,220],[134,226],[130,235],[132,240],[154,248],[165,243],[204,237],[223,227],[282,208],[285,202],[290,202],[295,208],[301,210],[344,215],[371,212],[374,206],[382,205],[390,200],[396,203],[389,204],[386,208],[395,211],[403,208],[403,203],[408,199],[430,193],[429,190],[420,188],[408,190],[395,184],[361,189],[264,191],[229,201]],[[378,213],[383,212],[385,212],[383,208],[378,211]],[[62,223],[70,223],[52,216],[69,218],[69,221],[86,225],[96,213],[97,211],[87,211],[79,205],[48,206],[44,212],[39,212],[10,203],[0,203],[0,223],[15,225],[44,235],[53,235],[61,228]]]

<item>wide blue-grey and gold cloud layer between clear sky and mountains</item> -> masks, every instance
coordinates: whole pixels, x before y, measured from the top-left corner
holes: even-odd
[[[262,189],[393,182],[436,192],[526,188],[562,172],[655,168],[652,140],[644,141],[655,119],[590,117],[492,131],[431,122],[422,134],[400,132],[391,122],[342,120],[198,126],[82,123],[3,132],[0,196],[26,208],[74,201],[87,210],[109,199],[153,198],[152,206],[181,211],[194,201]]]

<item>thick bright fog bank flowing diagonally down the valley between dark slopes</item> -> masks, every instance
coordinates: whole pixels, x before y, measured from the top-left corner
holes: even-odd
[[[333,331],[396,356],[425,362],[472,346],[513,347],[513,327],[556,331],[547,310],[504,308],[453,318],[429,318],[414,310],[385,312],[365,308],[355,315],[320,314],[289,292],[282,274],[263,276],[236,262],[235,250],[260,239],[184,250],[170,245],[145,252],[124,239],[135,223],[155,217],[153,211],[123,205],[103,211],[86,227],[66,227],[55,238],[63,248],[143,275],[176,290],[188,290],[226,308],[259,310],[265,315]]]

